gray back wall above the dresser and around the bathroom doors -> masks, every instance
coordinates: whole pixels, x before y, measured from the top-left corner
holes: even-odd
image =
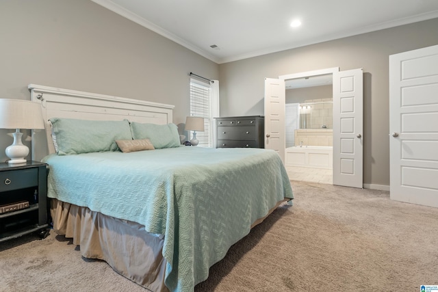
[[[263,114],[263,79],[363,68],[363,183],[389,185],[389,55],[438,44],[438,18],[220,64],[221,116]]]

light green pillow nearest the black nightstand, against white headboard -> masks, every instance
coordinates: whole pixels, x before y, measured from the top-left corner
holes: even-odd
[[[58,155],[118,150],[116,140],[129,140],[128,120],[51,118]]]

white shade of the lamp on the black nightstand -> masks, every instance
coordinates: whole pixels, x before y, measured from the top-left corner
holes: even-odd
[[[0,129],[44,129],[41,105],[33,101],[0,98]]]

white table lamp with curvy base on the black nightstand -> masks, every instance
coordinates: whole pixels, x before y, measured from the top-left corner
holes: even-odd
[[[25,163],[29,147],[23,145],[20,129],[44,129],[41,106],[33,101],[0,98],[0,129],[15,129],[14,142],[6,148],[8,163]]]

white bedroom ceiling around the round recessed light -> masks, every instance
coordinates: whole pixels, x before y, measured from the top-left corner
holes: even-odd
[[[438,17],[437,0],[92,1],[218,64]]]

